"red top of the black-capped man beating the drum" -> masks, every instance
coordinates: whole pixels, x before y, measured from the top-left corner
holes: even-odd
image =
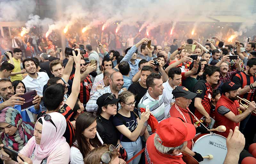
[[[183,121],[184,123],[191,123],[194,125],[195,123],[195,119],[194,119],[194,116],[192,116],[192,114],[188,111],[189,109],[186,108],[181,108],[177,105],[177,107],[180,109],[180,112],[183,114],[183,117],[182,114],[180,114],[180,112],[176,109],[176,105],[173,104],[170,111],[169,111],[169,114],[167,116],[167,118],[169,117],[175,117],[175,118],[179,118],[181,119],[181,121]],[[187,147],[191,150],[192,149],[192,140],[189,140],[188,141],[188,145]]]

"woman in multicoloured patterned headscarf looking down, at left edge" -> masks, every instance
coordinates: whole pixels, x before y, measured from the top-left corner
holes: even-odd
[[[33,123],[22,121],[20,112],[13,108],[0,110],[0,137],[5,146],[20,151],[34,134]]]

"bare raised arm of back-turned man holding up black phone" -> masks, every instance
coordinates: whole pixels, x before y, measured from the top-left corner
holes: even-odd
[[[77,48],[75,49],[78,51],[78,54],[76,56],[75,51],[73,51],[73,56],[74,56],[74,61],[76,64],[76,71],[75,71],[75,76],[73,79],[73,84],[72,84],[72,92],[70,93],[68,99],[66,100],[65,104],[67,104],[71,109],[74,108],[76,104],[76,100],[80,91],[80,63],[81,63],[81,55],[80,55],[80,50]]]

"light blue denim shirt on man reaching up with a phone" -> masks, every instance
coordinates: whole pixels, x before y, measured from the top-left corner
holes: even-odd
[[[134,61],[134,64],[130,61],[132,58],[132,55],[135,53],[136,50],[137,50],[137,47],[135,45],[133,45],[132,48],[130,48],[129,51],[127,52],[127,54],[124,56],[124,58],[121,60],[121,62],[129,63],[130,68],[131,68],[131,71],[130,71],[131,78],[139,71],[140,59],[136,59]],[[148,56],[147,61],[150,61],[151,59],[152,59],[152,57]]]

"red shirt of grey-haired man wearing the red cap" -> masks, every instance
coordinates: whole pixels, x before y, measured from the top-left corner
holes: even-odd
[[[186,164],[182,160],[182,154],[167,155],[167,154],[158,152],[154,145],[155,135],[156,133],[149,136],[146,142],[146,146],[145,146],[146,164]],[[170,137],[175,137],[175,136],[170,136]]]

